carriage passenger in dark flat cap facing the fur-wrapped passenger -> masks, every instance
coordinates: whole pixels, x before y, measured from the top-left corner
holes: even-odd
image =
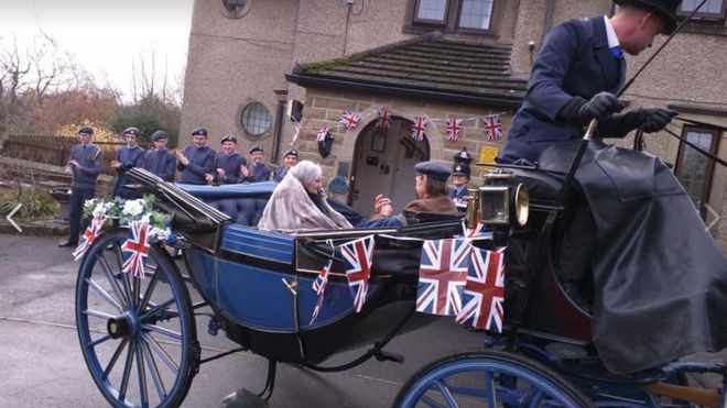
[[[447,179],[449,167],[440,162],[422,162],[414,166],[416,169],[416,199],[404,207],[402,213],[394,216],[391,199],[378,195],[375,202],[375,214],[371,220],[357,227],[404,227],[410,223],[406,214],[411,212],[430,212],[447,216],[458,213],[454,201],[447,196]]]

